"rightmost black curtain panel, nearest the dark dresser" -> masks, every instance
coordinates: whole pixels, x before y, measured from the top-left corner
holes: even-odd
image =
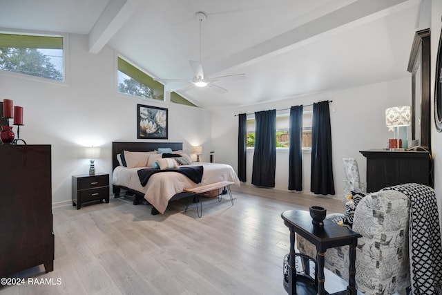
[[[313,104],[310,191],[321,195],[335,194],[329,101]]]

